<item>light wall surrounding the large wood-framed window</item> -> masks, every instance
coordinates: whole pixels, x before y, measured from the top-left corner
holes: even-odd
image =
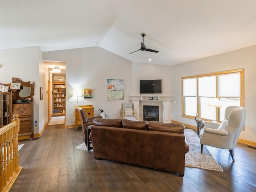
[[[240,138],[256,142],[256,45],[215,56],[202,58],[172,67],[172,120],[196,126],[192,119],[182,118],[181,78],[198,74],[244,68],[244,106],[246,108],[245,130]]]

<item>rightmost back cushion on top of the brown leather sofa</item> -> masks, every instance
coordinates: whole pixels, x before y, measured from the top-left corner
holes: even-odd
[[[176,123],[160,123],[149,121],[148,122],[148,130],[150,131],[163,131],[163,132],[172,132],[184,134],[185,126],[183,124]]]

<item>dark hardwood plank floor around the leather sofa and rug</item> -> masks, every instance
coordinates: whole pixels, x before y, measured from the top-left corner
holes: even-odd
[[[47,126],[38,140],[20,141],[23,168],[10,192],[256,191],[256,149],[244,144],[234,150],[236,162],[228,150],[207,147],[224,171],[186,167],[181,178],[171,172],[94,160],[93,152],[75,149],[82,142],[81,128],[65,129],[64,124]]]

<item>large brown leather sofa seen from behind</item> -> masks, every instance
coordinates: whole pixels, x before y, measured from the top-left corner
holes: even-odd
[[[94,119],[93,155],[97,159],[176,172],[184,176],[188,144],[183,124]]]

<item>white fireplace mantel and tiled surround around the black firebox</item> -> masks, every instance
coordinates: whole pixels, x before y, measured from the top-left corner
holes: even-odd
[[[171,123],[172,122],[172,101],[174,96],[163,95],[140,95],[130,96],[130,100],[134,105],[134,112],[139,120],[143,120],[143,105],[158,105],[159,109],[159,122]]]

